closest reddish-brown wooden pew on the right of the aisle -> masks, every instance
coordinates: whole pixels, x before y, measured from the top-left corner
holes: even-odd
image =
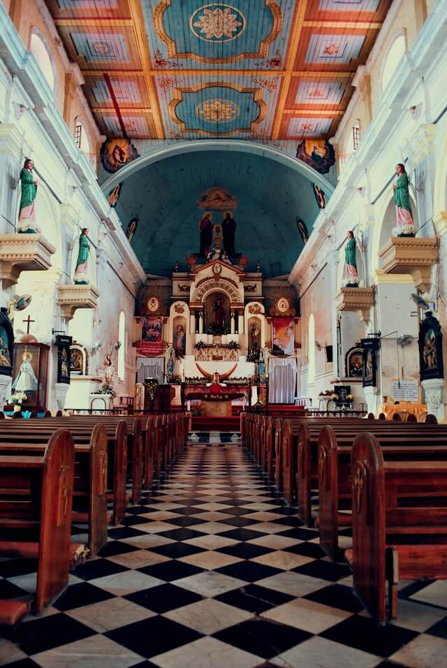
[[[384,462],[379,441],[352,449],[353,588],[374,621],[397,618],[400,580],[447,579],[447,463]]]

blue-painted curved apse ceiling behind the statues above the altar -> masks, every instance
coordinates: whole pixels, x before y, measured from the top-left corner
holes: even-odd
[[[117,213],[124,230],[139,217],[131,245],[147,273],[169,276],[175,261],[189,269],[186,258],[199,250],[200,196],[210,187],[226,189],[237,201],[235,249],[260,261],[264,277],[287,274],[303,242],[296,218],[309,233],[318,206],[307,177],[283,164],[248,152],[200,151],[166,158],[124,181]],[[214,211],[213,224],[223,212]]]

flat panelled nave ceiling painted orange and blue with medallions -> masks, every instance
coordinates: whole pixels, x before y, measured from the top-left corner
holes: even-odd
[[[328,138],[391,0],[47,0],[101,131]]]

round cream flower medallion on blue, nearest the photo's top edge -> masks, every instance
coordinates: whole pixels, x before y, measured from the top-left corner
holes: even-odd
[[[244,15],[230,5],[214,2],[196,10],[189,22],[196,37],[207,42],[228,42],[245,29]]]

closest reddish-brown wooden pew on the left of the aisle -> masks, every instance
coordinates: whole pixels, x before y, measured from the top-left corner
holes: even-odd
[[[68,430],[43,456],[0,455],[0,555],[38,560],[37,614],[68,584],[73,476]]]

